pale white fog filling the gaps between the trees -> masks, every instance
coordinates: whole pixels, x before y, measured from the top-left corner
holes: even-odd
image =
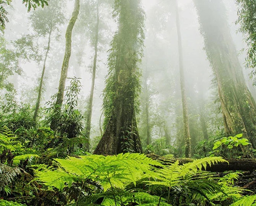
[[[49,1],[49,6],[51,2]],[[44,78],[44,91],[41,98],[41,106],[51,100],[51,96],[58,91],[58,82],[65,53],[65,32],[68,21],[71,18],[74,1],[62,1],[61,10],[65,16],[63,24],[57,25],[53,31],[49,56],[46,62]],[[81,0],[81,8],[78,20],[72,34],[71,58],[68,68],[68,77],[81,78],[82,90],[79,93],[78,108],[81,114],[86,114],[88,98],[91,90],[92,65],[94,48],[92,31],[95,16],[90,16],[91,8],[87,7],[86,0]],[[93,2],[93,1],[92,1]],[[141,93],[139,96],[139,111],[136,115],[138,132],[144,148],[147,148],[147,129],[150,130],[151,143],[164,145],[166,141],[171,147],[166,146],[165,152],[170,150],[182,153],[183,142],[183,114],[180,89],[178,37],[175,19],[175,6],[169,0],[142,0],[142,6],[146,15],[144,21],[144,55],[139,68],[141,69]],[[105,79],[108,74],[108,55],[111,48],[110,42],[118,29],[117,19],[112,18],[112,1],[99,7],[99,52],[96,69],[95,90],[91,118],[91,151],[96,147],[100,139],[100,124],[102,127],[104,117],[102,115],[102,92],[105,88]],[[237,50],[237,55],[246,84],[251,94],[256,98],[256,88],[253,86],[245,69],[246,44],[243,35],[238,32],[237,5],[233,0],[224,0],[227,23],[230,34]],[[46,8],[47,6],[45,6]],[[13,0],[7,8],[9,23],[6,24],[4,38],[7,42],[15,41],[25,35],[35,35],[34,45],[38,47],[37,55],[44,55],[48,37],[36,34],[32,26],[31,15],[44,10],[27,11],[21,0]],[[204,139],[201,129],[201,117],[204,116],[209,137],[216,133],[224,135],[224,124],[221,113],[218,89],[214,80],[214,72],[207,58],[204,37],[201,33],[198,21],[198,13],[193,0],[178,0],[178,13],[180,16],[181,41],[183,51],[183,68],[185,79],[185,94],[188,105],[188,119],[192,140],[192,151],[195,151],[198,142]],[[10,43],[9,48],[14,46]],[[16,90],[15,97],[21,103],[36,104],[37,85],[41,77],[43,61],[19,59],[22,68],[21,75],[14,74],[8,77]],[[66,86],[70,79],[67,79]],[[3,90],[4,94],[6,91]],[[146,106],[147,105],[147,106]],[[149,125],[146,116],[148,107]],[[100,122],[101,121],[101,122]],[[149,128],[147,128],[149,127]],[[169,139],[166,140],[167,136]],[[158,141],[158,142],[157,142]],[[168,142],[169,141],[169,142]],[[181,146],[180,146],[181,145]],[[163,146],[165,147],[165,146]],[[175,149],[174,149],[175,148]],[[151,148],[147,148],[151,150]]]

